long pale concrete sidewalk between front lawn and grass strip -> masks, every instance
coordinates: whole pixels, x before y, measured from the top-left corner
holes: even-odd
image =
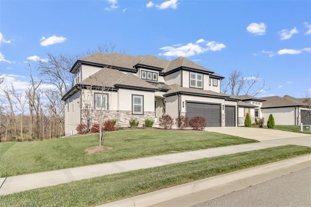
[[[212,148],[206,150],[177,153],[171,155],[159,155],[132,160],[124,160],[111,163],[69,168],[50,172],[17,175],[0,178],[0,195],[13,194],[20,191],[32,190],[48,186],[55,186],[72,181],[89,179],[113,173],[122,173],[139,169],[169,165],[190,160],[229,155],[252,150],[260,150],[269,147],[286,145],[279,142],[259,142],[251,144],[233,145],[227,147]]]

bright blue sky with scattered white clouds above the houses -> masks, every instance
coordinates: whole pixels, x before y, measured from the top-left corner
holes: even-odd
[[[259,75],[267,92],[311,91],[311,1],[19,0],[0,1],[0,73],[27,86],[30,63],[46,52],[185,56],[225,77]],[[27,59],[28,58],[28,59]],[[36,73],[35,73],[36,74]]]

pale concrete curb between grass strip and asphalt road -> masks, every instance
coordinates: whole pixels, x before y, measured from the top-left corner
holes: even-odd
[[[107,203],[99,207],[147,207],[154,206],[163,202],[167,202],[176,198],[190,195],[192,193],[208,190],[214,187],[223,186],[245,178],[250,178],[256,175],[275,172],[280,169],[288,168],[299,163],[311,161],[311,155],[299,156],[291,159],[286,159],[274,163],[269,163],[249,169],[244,169],[232,173],[226,173],[209,177],[203,180],[197,180],[190,183],[170,187],[167,189],[157,190],[154,192],[137,195],[134,197],[122,199],[119,201]]]

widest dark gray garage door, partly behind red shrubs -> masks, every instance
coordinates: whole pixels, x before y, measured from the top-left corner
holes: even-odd
[[[186,117],[201,116],[206,119],[207,127],[220,126],[220,104],[204,104],[186,102]]]

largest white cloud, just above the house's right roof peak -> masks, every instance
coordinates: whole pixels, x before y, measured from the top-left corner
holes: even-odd
[[[203,40],[203,41],[202,41]],[[159,48],[164,51],[163,53],[159,53],[160,56],[168,56],[168,57],[190,57],[194,55],[198,55],[207,51],[221,51],[225,48],[225,44],[218,43],[215,41],[205,41],[204,39],[199,39],[196,43],[188,43],[187,45],[177,44],[173,46],[165,46]]]

